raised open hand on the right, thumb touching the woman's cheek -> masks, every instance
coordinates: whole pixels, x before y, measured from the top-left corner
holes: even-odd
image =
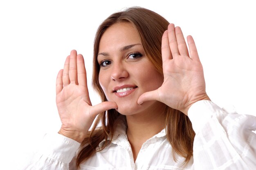
[[[180,27],[168,25],[162,37],[164,82],[158,89],[142,94],[138,104],[156,100],[187,115],[193,103],[210,100],[195,42],[192,36],[187,41],[189,51]]]

